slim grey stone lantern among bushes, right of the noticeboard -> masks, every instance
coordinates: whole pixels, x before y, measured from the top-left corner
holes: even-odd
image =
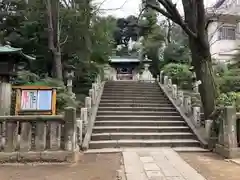
[[[72,95],[72,98],[76,98],[75,94],[72,91],[73,88],[73,78],[74,78],[74,71],[75,67],[73,65],[65,65],[65,77],[67,79],[67,90],[68,93]]]

